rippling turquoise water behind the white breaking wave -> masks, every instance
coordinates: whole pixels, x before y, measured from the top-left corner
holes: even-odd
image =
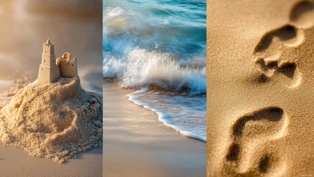
[[[206,1],[104,1],[103,8],[105,52],[123,55],[133,45],[178,60],[206,57]]]

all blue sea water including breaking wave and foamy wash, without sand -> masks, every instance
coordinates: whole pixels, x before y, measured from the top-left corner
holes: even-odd
[[[129,100],[206,141],[206,1],[103,2],[103,75]]]

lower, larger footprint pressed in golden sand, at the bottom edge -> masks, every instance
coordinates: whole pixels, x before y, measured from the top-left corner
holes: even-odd
[[[240,117],[232,126],[225,171],[240,176],[267,176],[268,171],[280,171],[281,167],[276,164],[279,158],[267,149],[267,144],[284,137],[287,126],[287,116],[279,107],[264,108]]]

